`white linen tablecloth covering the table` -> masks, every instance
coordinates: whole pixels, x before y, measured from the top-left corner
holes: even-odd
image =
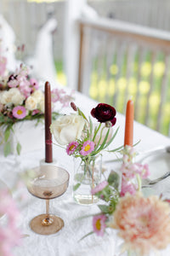
[[[76,93],[76,103],[86,114],[96,107],[97,103],[88,99],[82,94]],[[67,112],[72,112],[67,109]],[[116,148],[123,144],[125,118],[122,114],[116,114],[116,126],[120,126],[118,134],[110,148]],[[144,125],[134,122],[133,142],[141,142],[136,146],[139,153],[150,149],[166,147],[170,145],[170,138],[162,136],[156,131],[152,131]],[[58,160],[58,165],[64,167],[71,175],[70,185],[65,195],[50,201],[50,212],[61,217],[65,221],[65,227],[57,234],[41,236],[31,231],[29,222],[38,214],[45,212],[45,201],[33,197],[26,188],[20,188],[14,192],[14,197],[21,193],[26,193],[25,201],[20,202],[21,218],[19,222],[23,233],[28,235],[22,239],[22,245],[14,248],[15,256],[118,256],[121,240],[116,237],[114,230],[107,230],[104,237],[91,235],[79,241],[82,236],[92,231],[92,218],[78,218],[99,212],[97,205],[80,206],[72,199],[71,183],[73,180],[73,160],[65,153],[65,150],[53,147],[54,158]],[[109,158],[114,158],[115,154],[110,154]],[[24,172],[27,168],[38,166],[40,160],[44,158],[44,148],[42,150],[22,154],[20,156],[10,155],[4,158],[0,155],[1,172],[0,178],[11,188],[18,172]],[[116,166],[110,164],[111,168]],[[161,171],[160,171],[161,172]],[[161,255],[169,256],[170,247],[161,252]],[[125,253],[122,255],[126,255]]]

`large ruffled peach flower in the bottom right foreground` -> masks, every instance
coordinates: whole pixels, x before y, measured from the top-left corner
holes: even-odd
[[[170,242],[170,207],[156,195],[126,195],[117,204],[108,226],[119,231],[125,249],[145,255]]]

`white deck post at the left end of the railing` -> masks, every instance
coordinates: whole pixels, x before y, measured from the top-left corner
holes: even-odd
[[[79,60],[79,27],[77,19],[80,17],[87,0],[67,0],[65,6],[65,47],[64,65],[67,86],[77,89],[77,74]]]

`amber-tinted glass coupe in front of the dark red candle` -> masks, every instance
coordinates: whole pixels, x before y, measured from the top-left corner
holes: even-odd
[[[62,218],[49,213],[49,200],[65,193],[69,177],[69,173],[58,166],[38,166],[31,169],[27,189],[31,195],[46,201],[46,213],[33,218],[30,223],[31,230],[37,234],[54,234],[64,226]]]

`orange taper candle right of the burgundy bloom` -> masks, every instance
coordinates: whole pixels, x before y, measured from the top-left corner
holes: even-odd
[[[126,121],[125,121],[124,146],[128,145],[133,147],[133,116],[134,116],[133,101],[128,100],[127,110],[126,110]]]

